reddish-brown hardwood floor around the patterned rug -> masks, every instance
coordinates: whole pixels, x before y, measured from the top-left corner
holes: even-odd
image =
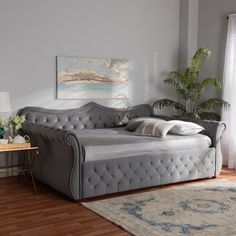
[[[218,178],[236,181],[236,171],[224,168]],[[205,181],[214,181],[214,179]],[[70,201],[41,183],[37,184],[40,194],[34,193],[30,182],[17,182],[16,177],[0,178],[1,236],[129,235],[118,226],[87,210],[80,203]],[[172,186],[176,185],[130,191],[129,194]],[[115,194],[115,196],[125,194],[127,193]],[[109,197],[111,196],[114,194]]]

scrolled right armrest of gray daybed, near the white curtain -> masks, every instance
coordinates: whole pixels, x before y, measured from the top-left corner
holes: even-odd
[[[205,128],[205,131],[203,131],[203,134],[206,134],[211,138],[212,141],[212,147],[215,147],[216,149],[216,171],[215,175],[220,174],[220,170],[222,168],[222,151],[221,151],[221,144],[220,140],[223,134],[223,131],[226,129],[225,123],[221,121],[213,121],[213,120],[187,120],[187,119],[181,119],[177,117],[168,117],[168,116],[162,116],[162,115],[155,115],[157,118],[161,118],[164,120],[185,120],[185,121],[191,121],[196,124],[201,125]]]

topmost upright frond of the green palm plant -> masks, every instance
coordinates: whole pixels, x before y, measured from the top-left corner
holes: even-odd
[[[190,72],[199,73],[205,61],[210,57],[211,52],[208,48],[199,48],[194,56],[190,66],[187,68]]]

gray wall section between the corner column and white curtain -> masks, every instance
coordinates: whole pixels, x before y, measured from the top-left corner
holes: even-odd
[[[222,80],[227,33],[227,15],[236,12],[235,0],[199,0],[198,46],[207,47],[212,56],[202,75]],[[209,91],[209,96],[221,96],[221,92]]]

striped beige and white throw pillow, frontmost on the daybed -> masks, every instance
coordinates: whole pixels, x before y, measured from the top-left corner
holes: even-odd
[[[145,120],[136,129],[134,134],[143,136],[165,137],[174,124],[164,120]]]

